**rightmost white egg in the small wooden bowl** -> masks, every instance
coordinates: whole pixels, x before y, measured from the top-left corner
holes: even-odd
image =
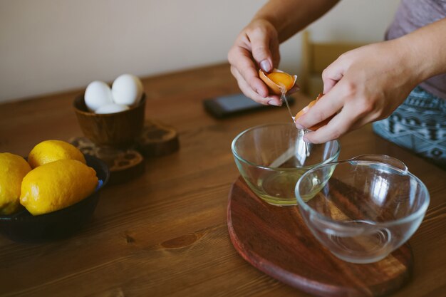
[[[139,78],[131,74],[123,74],[113,81],[113,101],[118,104],[136,105],[142,97],[142,83]]]

